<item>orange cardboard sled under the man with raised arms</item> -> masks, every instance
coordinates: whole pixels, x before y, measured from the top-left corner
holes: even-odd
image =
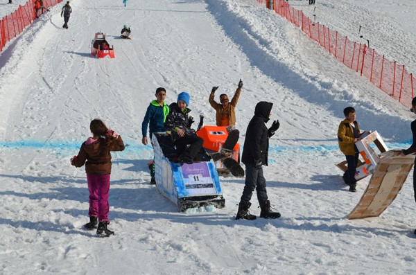
[[[228,137],[227,129],[224,126],[204,126],[196,134],[204,140],[204,148],[208,154],[215,154],[223,148],[223,144]],[[236,143],[231,154],[232,159],[240,163],[240,143]],[[215,161],[218,172],[229,174],[229,170],[224,166],[223,161]]]

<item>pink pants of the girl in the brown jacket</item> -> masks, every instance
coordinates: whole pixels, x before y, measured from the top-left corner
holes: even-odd
[[[108,221],[108,192],[110,191],[110,174],[87,175],[89,190],[88,215],[98,217],[98,222]]]

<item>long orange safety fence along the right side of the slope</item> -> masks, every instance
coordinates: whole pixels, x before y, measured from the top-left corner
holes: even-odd
[[[374,48],[369,48],[367,44],[353,42],[339,35],[337,31],[315,23],[306,17],[302,10],[292,8],[287,1],[257,0],[257,2],[266,3],[266,8],[275,10],[281,17],[301,28],[337,60],[368,78],[376,87],[399,100],[401,104],[411,106],[416,80],[412,73],[406,71],[404,65],[387,60],[384,55],[376,53]]]

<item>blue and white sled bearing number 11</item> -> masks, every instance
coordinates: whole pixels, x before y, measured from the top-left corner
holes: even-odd
[[[153,134],[156,187],[162,195],[177,205],[179,211],[214,205],[225,206],[225,199],[214,161],[202,148],[192,164],[175,163],[176,150],[171,136]]]

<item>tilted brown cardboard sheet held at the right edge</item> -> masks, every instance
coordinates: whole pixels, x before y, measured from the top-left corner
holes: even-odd
[[[378,217],[395,200],[415,162],[415,155],[388,151],[376,165],[363,196],[347,218]]]

